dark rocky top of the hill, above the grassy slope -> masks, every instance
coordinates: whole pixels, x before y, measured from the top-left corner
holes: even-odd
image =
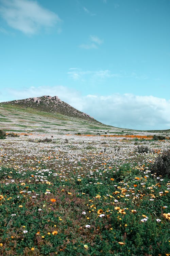
[[[1,104],[21,105],[23,108],[29,107],[29,108],[34,108],[44,112],[50,112],[50,113],[57,112],[67,116],[86,119],[92,123],[100,123],[93,117],[87,115],[86,113],[83,113],[73,108],[68,103],[59,99],[57,96],[51,97],[49,95],[48,96],[45,95],[42,97],[34,97],[34,98],[28,98],[23,100],[1,102]]]

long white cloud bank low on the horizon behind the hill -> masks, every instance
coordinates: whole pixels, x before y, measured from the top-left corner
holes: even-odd
[[[74,108],[86,112],[102,123],[131,129],[169,129],[170,100],[153,96],[113,94],[108,96],[86,95],[64,86],[41,86],[25,89],[6,89],[0,101],[58,96]]]

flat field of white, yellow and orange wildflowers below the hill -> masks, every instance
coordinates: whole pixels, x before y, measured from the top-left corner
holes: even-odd
[[[170,255],[168,138],[46,136],[0,140],[0,255]]]

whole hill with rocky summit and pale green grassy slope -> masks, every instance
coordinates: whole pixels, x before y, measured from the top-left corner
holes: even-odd
[[[57,96],[0,103],[0,129],[6,131],[96,134],[110,128],[117,129],[98,122]]]

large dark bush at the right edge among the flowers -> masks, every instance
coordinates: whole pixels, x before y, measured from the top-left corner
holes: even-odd
[[[150,168],[152,173],[156,173],[157,176],[170,177],[170,149],[163,151],[161,155],[155,159],[154,164]]]

